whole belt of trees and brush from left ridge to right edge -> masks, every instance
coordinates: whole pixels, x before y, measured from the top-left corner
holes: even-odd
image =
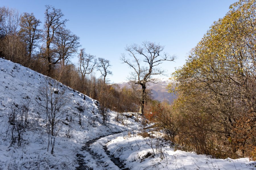
[[[162,62],[172,63],[177,58],[167,54],[163,45],[144,41],[125,47],[120,62],[132,72],[124,75],[129,86],[121,88],[119,84],[110,84],[110,61],[81,48],[79,36],[66,27],[68,19],[61,9],[46,5],[44,15],[41,21],[33,13],[20,14],[16,9],[0,7],[0,57],[98,101],[104,125],[110,121],[108,110],[116,112],[115,120],[121,124],[129,117],[127,112],[136,112],[144,124],[141,136],[155,138],[145,131],[146,124],[152,124],[154,131],[163,134],[163,141],[158,142],[169,141],[175,150],[218,159],[256,160],[255,0],[240,0],[230,5],[226,15],[212,23],[191,49],[186,63],[172,73],[166,87],[177,95],[172,103],[154,100],[147,88],[149,82],[157,83],[157,76],[164,75]],[[77,58],[78,63],[72,63],[72,58]],[[97,77],[96,72],[101,76]],[[49,90],[47,83],[45,88]],[[37,103],[45,95],[43,89],[39,91],[41,98],[36,98]],[[59,100],[64,102],[64,97]],[[49,123],[52,129],[49,125],[48,133],[55,136],[53,119]]]

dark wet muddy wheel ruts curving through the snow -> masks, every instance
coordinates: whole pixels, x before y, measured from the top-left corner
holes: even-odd
[[[104,137],[108,137],[114,134],[118,134],[118,133],[122,133],[122,132],[117,132],[117,133],[112,133],[110,135],[105,135],[105,136],[100,136],[98,138],[92,139],[88,142],[86,142],[82,148],[81,151],[86,151],[90,154],[90,161],[88,162],[88,160],[86,161],[86,156],[84,156],[83,154],[77,154],[77,162],[79,164],[79,167],[77,167],[77,170],[93,170],[93,168],[91,168],[88,163],[94,163],[97,165],[97,167],[99,167],[99,169],[108,169],[108,164],[106,164],[106,162],[102,161],[102,155],[99,155],[97,153],[95,153],[90,146],[97,142],[99,139],[104,138]],[[114,158],[110,152],[107,150],[106,145],[103,146],[104,148],[104,152],[107,154],[107,156],[110,158],[110,160],[120,169],[124,169],[124,170],[129,170],[129,168],[125,168],[124,164],[119,160],[119,158]],[[87,155],[88,156],[88,155]],[[93,161],[91,161],[93,159]],[[95,169],[96,170],[96,169]]]

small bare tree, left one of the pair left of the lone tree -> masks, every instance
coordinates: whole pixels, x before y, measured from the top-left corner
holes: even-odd
[[[80,49],[78,59],[79,71],[82,79],[84,80],[85,75],[92,73],[95,67],[97,67],[97,59],[91,54],[86,54],[85,48]]]

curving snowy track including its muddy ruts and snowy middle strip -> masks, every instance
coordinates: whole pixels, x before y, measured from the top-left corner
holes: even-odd
[[[119,158],[110,155],[105,144],[118,136],[126,135],[128,132],[117,132],[111,135],[100,136],[85,143],[81,148],[81,152],[77,154],[79,167],[77,170],[120,170],[125,168]]]

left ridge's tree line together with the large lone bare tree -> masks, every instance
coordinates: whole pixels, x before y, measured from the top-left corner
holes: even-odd
[[[131,59],[122,54],[121,61],[133,70],[129,76],[132,88],[118,90],[118,86],[107,83],[107,76],[112,75],[110,61],[86,53],[85,48],[79,49],[80,38],[66,28],[68,20],[61,9],[51,5],[45,7],[42,29],[42,22],[33,13],[20,14],[16,9],[0,8],[0,56],[50,76],[100,102],[106,101],[104,97],[112,98],[114,101],[106,105],[114,110],[118,103],[116,97],[127,94],[124,91],[132,91],[128,92],[132,95],[123,96],[130,99],[126,110],[137,111],[139,105],[139,112],[143,114],[150,97],[146,84],[157,82],[154,76],[164,73],[158,67],[162,61],[174,61],[176,57],[164,53],[164,46],[154,42],[126,46],[125,51]],[[77,65],[71,62],[76,56]],[[101,78],[95,77],[95,71],[100,72]]]

